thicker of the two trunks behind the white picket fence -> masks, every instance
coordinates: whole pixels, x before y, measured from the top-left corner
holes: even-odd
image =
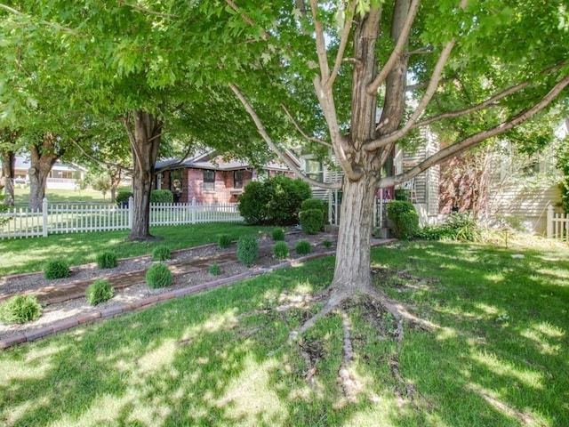
[[[29,151],[29,208],[41,210],[47,178],[63,152],[56,148],[56,137],[52,133],[45,133],[41,143],[31,144]]]

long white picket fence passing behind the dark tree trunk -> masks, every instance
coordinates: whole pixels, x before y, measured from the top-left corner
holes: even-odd
[[[183,225],[201,222],[240,222],[236,204],[191,203],[150,205],[150,225]],[[0,238],[34,238],[49,234],[131,230],[132,197],[125,207],[108,204],[49,203],[42,210],[13,208],[0,214]]]

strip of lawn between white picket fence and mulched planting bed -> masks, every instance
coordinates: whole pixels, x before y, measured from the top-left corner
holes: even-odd
[[[50,235],[46,238],[0,240],[0,276],[39,271],[45,262],[65,259],[69,265],[95,262],[97,254],[111,250],[118,258],[151,254],[158,245],[170,250],[217,243],[220,235],[233,240],[244,234],[270,233],[271,227],[252,227],[243,223],[215,222],[184,226],[152,227],[150,233],[164,238],[148,242],[126,241],[129,231],[97,231]]]

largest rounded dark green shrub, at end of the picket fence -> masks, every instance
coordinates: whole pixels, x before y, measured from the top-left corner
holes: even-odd
[[[253,225],[293,225],[303,200],[310,197],[309,184],[277,175],[267,181],[252,181],[239,197],[239,213]]]

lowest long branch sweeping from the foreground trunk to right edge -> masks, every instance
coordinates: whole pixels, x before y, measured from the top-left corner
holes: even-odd
[[[456,142],[453,145],[446,147],[445,149],[441,149],[405,173],[399,173],[396,176],[390,176],[382,179],[380,184],[381,188],[390,187],[401,182],[408,181],[414,176],[417,176],[419,173],[426,171],[431,166],[438,165],[439,163],[444,162],[451,157],[458,156],[463,151],[476,146],[482,141],[485,141],[494,136],[501,135],[502,133],[513,129],[517,125],[521,125],[526,120],[539,113],[542,109],[545,109],[551,102],[555,101],[559,93],[561,93],[567,86],[569,86],[569,76],[565,76],[559,82],[557,82],[557,84],[553,86],[549,93],[547,93],[541,99],[541,101],[536,103],[533,107],[520,111],[516,116],[501,123],[500,125],[496,125],[490,129],[486,129],[485,131],[470,135],[468,138],[460,142]]]

